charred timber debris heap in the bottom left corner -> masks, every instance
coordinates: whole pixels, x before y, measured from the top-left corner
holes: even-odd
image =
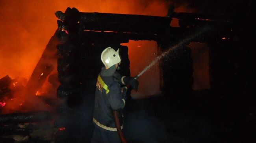
[[[41,140],[52,140],[53,137],[44,138],[44,136],[53,136],[53,127],[48,123],[51,120],[52,116],[48,111],[0,114],[0,139],[28,141],[30,137],[40,137]],[[50,129],[45,129],[45,126]]]

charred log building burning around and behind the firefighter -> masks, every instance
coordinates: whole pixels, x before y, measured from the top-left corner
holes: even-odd
[[[200,101],[207,101],[208,103],[205,98],[209,97],[213,101],[219,101],[216,98],[221,98],[221,101],[219,101],[221,103],[218,103],[218,105],[223,107],[222,103],[230,98],[230,93],[239,98],[237,91],[233,90],[234,87],[241,89],[241,91],[245,90],[237,84],[239,81],[243,82],[243,80],[237,78],[237,74],[241,72],[239,69],[241,63],[237,60],[237,55],[239,55],[237,50],[239,48],[236,44],[241,44],[243,40],[238,37],[241,41],[237,42],[237,36],[240,36],[240,33],[238,34],[237,25],[234,24],[231,18],[216,14],[177,13],[174,12],[172,6],[169,7],[168,12],[166,11],[166,16],[85,13],[78,11],[76,8],[67,8],[65,13],[57,11],[55,14],[58,18],[58,29],[43,51],[30,79],[28,81],[20,78],[12,80],[9,76],[5,76],[0,80],[0,111],[2,113],[0,116],[0,130],[3,138],[10,136],[14,138],[12,135],[19,135],[17,140],[23,141],[31,141],[32,138],[37,138],[37,141],[89,142],[93,129],[91,119],[96,77],[100,67],[102,67],[98,57],[106,47],[119,48],[122,57],[122,67],[119,72],[126,76],[130,76],[131,73],[137,74],[131,72],[132,68],[130,66],[132,54],[135,54],[135,52],[129,53],[131,48],[125,44],[131,40],[154,41],[156,43],[156,56],[154,58],[172,49],[171,52],[159,59],[158,75],[154,76],[155,79],[152,81],[159,83],[154,85],[157,86],[158,94],[156,95],[156,92],[152,94],[157,97],[130,100],[127,104],[127,115],[139,118],[138,122],[142,122],[138,127],[142,125],[144,129],[153,130],[147,128],[147,125],[151,126],[154,124],[151,122],[156,120],[160,124],[156,129],[166,125],[162,129],[164,130],[163,134],[179,134],[171,123],[165,121],[165,119],[161,120],[161,118],[172,116],[169,110],[179,108],[179,110],[185,111],[186,114],[192,114],[191,118],[193,118],[194,111],[191,111],[191,113],[190,110],[185,109],[192,103]],[[178,27],[170,26],[173,19],[178,20]],[[206,30],[200,32],[202,29]],[[198,31],[199,34],[197,34]],[[195,66],[193,67],[195,63],[193,63],[194,59],[191,58],[191,54],[195,54],[191,47],[197,47],[196,43],[205,43],[208,48],[209,65],[206,75],[209,83],[205,86],[207,90],[203,91],[193,91],[193,84],[195,83],[193,72],[200,71]],[[139,48],[141,45],[137,45],[137,47]],[[232,55],[227,56],[228,53]],[[230,60],[236,62],[232,64]],[[230,67],[227,67],[227,65]],[[44,85],[45,83],[49,83],[50,86],[48,87],[50,88]],[[45,91],[42,90],[44,86],[47,88]],[[49,96],[49,91],[53,91],[51,92],[53,96]],[[215,96],[214,99],[212,96],[202,97],[202,95],[215,93],[220,94],[220,96]],[[199,99],[191,99],[192,97]],[[177,105],[172,107],[167,102]],[[212,106],[211,101],[209,102],[209,106]],[[162,103],[162,105],[160,106],[158,103]],[[152,114],[147,113],[148,111],[145,111],[145,113],[141,111],[140,108],[145,108],[143,105],[148,107],[160,119],[151,118]],[[231,105],[234,105],[234,103],[232,102]],[[197,109],[197,106],[193,105],[193,108]],[[216,108],[210,108],[209,110],[217,112]],[[45,110],[32,112],[39,109]],[[229,108],[227,107],[227,109]],[[240,111],[244,112],[245,109],[247,107]],[[141,114],[141,112],[143,112],[143,116],[146,114],[145,117],[150,115],[150,119],[138,117],[137,114]],[[163,112],[167,113],[163,114]],[[200,112],[204,111],[200,109]],[[223,114],[225,113],[223,111]],[[220,117],[219,114],[217,115]],[[175,116],[179,117],[178,115]],[[211,117],[212,115],[208,114],[208,116]],[[236,118],[235,122],[241,123],[244,121],[237,118],[237,113],[232,114],[232,116]],[[181,118],[181,120],[186,120],[186,117]],[[224,119],[212,119],[216,124],[222,120]],[[124,134],[128,140],[150,142],[145,139],[150,133],[147,134],[147,131],[144,131],[142,133],[143,136],[145,135],[144,138],[138,137],[135,135],[138,132],[133,133],[134,130],[131,127],[132,124],[136,125],[134,119],[126,119],[126,121],[128,128],[124,130]],[[193,121],[193,119],[189,121]],[[203,123],[204,121],[202,121]],[[183,123],[181,124],[183,125]],[[232,130],[235,130],[235,128],[247,129],[236,125],[234,123],[228,125],[227,128]],[[49,128],[44,128],[45,126]],[[217,130],[213,127],[210,129]],[[226,128],[220,127],[219,129],[225,130]],[[74,134],[74,130],[77,134]],[[187,131],[185,127],[184,130],[186,134],[191,131]],[[208,129],[205,130],[210,134]],[[42,138],[44,135],[39,136],[36,132],[47,132],[50,137]],[[193,133],[191,134],[193,135]],[[233,132],[230,134],[233,134]],[[161,138],[162,136],[162,134],[156,134],[157,138],[152,139],[151,142],[175,140],[171,137]],[[202,136],[205,137],[207,134]],[[223,137],[215,138],[216,136],[218,135],[214,134],[211,137],[212,141],[225,141]],[[200,140],[199,142],[203,141]]]

